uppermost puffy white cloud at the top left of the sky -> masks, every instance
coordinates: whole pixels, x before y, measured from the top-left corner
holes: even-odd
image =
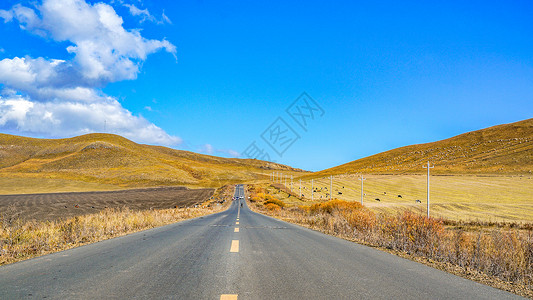
[[[46,35],[56,41],[70,41],[67,51],[75,54],[73,62],[27,60],[39,69],[53,69],[54,75],[68,76],[79,84],[105,84],[135,79],[140,62],[147,55],[165,50],[175,55],[176,48],[166,40],[148,40],[138,30],[122,27],[122,18],[113,7],[83,0],[44,0],[37,7],[42,18],[32,8],[15,5],[12,19],[21,28]],[[50,66],[45,66],[49,63]]]

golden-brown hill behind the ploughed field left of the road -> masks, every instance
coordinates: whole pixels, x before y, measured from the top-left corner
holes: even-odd
[[[18,182],[47,179],[121,187],[212,187],[268,179],[270,170],[302,171],[254,159],[222,158],[136,144],[112,134],[68,139],[0,134],[0,177],[17,178]]]

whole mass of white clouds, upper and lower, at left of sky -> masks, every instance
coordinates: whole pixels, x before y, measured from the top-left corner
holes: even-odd
[[[136,141],[181,142],[99,90],[110,82],[135,79],[151,53],[166,51],[175,56],[170,42],[127,30],[113,7],[84,0],[44,0],[33,8],[17,4],[0,10],[0,18],[18,22],[21,29],[38,36],[68,42],[66,51],[74,55],[68,61],[1,60],[0,128],[63,136],[102,131],[105,121],[109,131]]]

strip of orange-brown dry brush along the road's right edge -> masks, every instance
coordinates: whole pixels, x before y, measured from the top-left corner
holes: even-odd
[[[248,186],[254,210],[533,297],[532,224],[487,228],[479,223],[474,224],[476,230],[465,230],[447,226],[444,219],[411,211],[376,213],[360,203],[338,199],[297,205],[291,199],[296,197],[287,198],[288,194],[284,187]]]

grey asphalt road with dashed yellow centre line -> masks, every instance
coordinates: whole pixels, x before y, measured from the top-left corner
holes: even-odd
[[[236,196],[242,193],[238,186]],[[244,200],[221,213],[0,267],[0,299],[237,297],[519,298],[254,213]]]

